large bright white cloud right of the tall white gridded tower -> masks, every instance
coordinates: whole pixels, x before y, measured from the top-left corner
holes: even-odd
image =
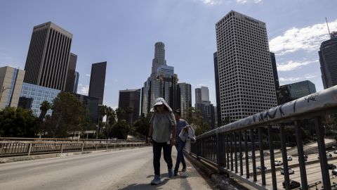
[[[244,0],[240,0],[244,1]],[[337,28],[337,20],[329,23],[330,28]],[[284,34],[270,40],[270,51],[278,55],[292,53],[294,51],[319,51],[323,41],[329,39],[326,23],[320,23],[303,28],[293,27]]]

